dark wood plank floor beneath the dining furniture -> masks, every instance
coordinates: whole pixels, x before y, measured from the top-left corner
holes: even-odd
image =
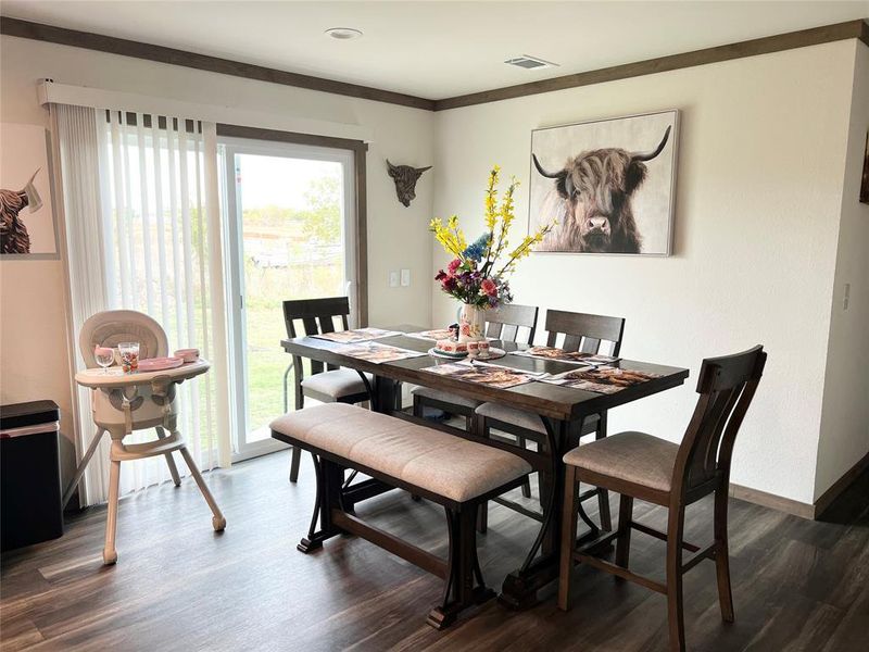
[[[592,568],[576,573],[570,613],[554,585],[522,613],[494,601],[445,632],[425,625],[440,585],[366,541],[340,538],[304,555],[313,467],[287,480],[278,453],[206,474],[226,514],[223,535],[191,480],[122,500],[117,566],[102,567],[105,511],[68,523],[56,541],[3,555],[2,650],[626,650],[667,649],[664,597]],[[643,514],[644,512],[644,514]],[[402,492],[360,513],[442,552],[440,509]],[[659,507],[640,519],[662,526]],[[688,537],[705,543],[710,504],[690,512]],[[493,505],[481,537],[487,581],[498,588],[536,530]],[[736,622],[721,623],[714,566],[685,577],[689,649],[813,652],[867,650],[869,637],[869,473],[824,522],[807,522],[733,500],[731,554]],[[664,548],[634,536],[638,570],[663,572]]]

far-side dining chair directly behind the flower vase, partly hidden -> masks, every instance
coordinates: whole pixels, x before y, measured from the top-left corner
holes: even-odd
[[[539,308],[536,305],[518,305],[507,303],[493,310],[486,311],[486,337],[495,338],[502,341],[530,343],[534,340],[537,331],[537,316]],[[521,333],[519,329],[525,329]],[[411,390],[414,399],[414,416],[423,417],[426,406],[437,408],[450,414],[465,417],[465,427],[471,429],[471,419],[475,410],[479,406],[479,401],[465,399],[445,391],[431,389],[429,387],[415,387]],[[530,487],[525,487],[522,491],[528,491]]]

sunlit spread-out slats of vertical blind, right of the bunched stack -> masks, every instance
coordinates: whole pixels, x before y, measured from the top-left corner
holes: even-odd
[[[181,117],[124,111],[103,115],[108,118],[98,124],[109,308],[151,315],[166,331],[171,352],[196,347],[210,360],[202,126]],[[178,428],[193,457],[212,468],[216,460],[212,377],[184,383],[178,390]],[[144,438],[152,439],[153,434]],[[150,462],[137,485],[168,478],[163,460]]]

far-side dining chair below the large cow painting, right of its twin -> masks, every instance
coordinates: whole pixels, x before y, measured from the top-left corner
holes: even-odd
[[[559,337],[564,336],[561,348],[566,351],[584,351],[587,353],[603,353],[618,356],[621,351],[621,337],[625,333],[624,317],[607,317],[585,313],[565,312],[561,310],[546,311],[546,346],[558,346]],[[536,414],[524,412],[498,403],[482,403],[476,410],[477,431],[482,437],[491,437],[492,428],[516,437],[520,448],[526,448],[531,440],[538,447],[546,442],[546,430],[543,422]],[[570,446],[579,446],[579,439],[585,435],[594,434],[595,439],[606,437],[606,412],[585,418],[581,425],[576,425],[569,434]],[[580,494],[584,501],[597,497],[601,527],[605,530],[613,528],[609,514],[609,496],[605,489],[591,489]],[[509,501],[499,500],[505,506],[512,506]],[[486,530],[486,516],[481,519],[481,530]]]

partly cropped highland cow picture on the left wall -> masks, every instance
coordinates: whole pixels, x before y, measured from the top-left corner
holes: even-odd
[[[0,125],[0,255],[55,258],[47,133]]]

